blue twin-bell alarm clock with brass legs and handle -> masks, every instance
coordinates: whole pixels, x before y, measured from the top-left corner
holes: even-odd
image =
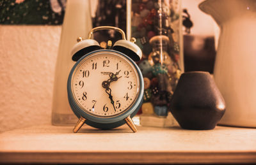
[[[92,39],[93,32],[115,30],[122,39],[107,47]],[[135,41],[134,39],[132,41]],[[88,39],[79,37],[72,48],[72,60],[76,61],[68,76],[68,101],[79,118],[74,133],[83,124],[113,129],[127,124],[137,131],[132,117],[143,102],[143,76],[135,61],[142,52],[132,41],[125,39],[122,29],[111,26],[95,27]]]

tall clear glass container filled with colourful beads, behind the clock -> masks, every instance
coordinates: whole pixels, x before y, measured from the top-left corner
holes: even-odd
[[[180,1],[132,0],[130,5],[127,4],[127,36],[136,38],[143,52],[143,59],[138,62],[145,83],[140,123],[174,126],[177,122],[169,112],[169,103],[184,71]]]

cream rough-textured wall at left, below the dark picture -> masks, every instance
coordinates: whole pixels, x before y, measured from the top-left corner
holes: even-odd
[[[0,132],[51,124],[60,26],[0,25]]]

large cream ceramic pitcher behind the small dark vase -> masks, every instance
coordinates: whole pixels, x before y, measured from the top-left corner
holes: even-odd
[[[227,104],[220,124],[256,127],[256,0],[207,0],[220,26],[214,79]]]

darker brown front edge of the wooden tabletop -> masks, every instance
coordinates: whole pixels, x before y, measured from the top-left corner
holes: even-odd
[[[3,163],[256,163],[254,152],[0,152]]]

